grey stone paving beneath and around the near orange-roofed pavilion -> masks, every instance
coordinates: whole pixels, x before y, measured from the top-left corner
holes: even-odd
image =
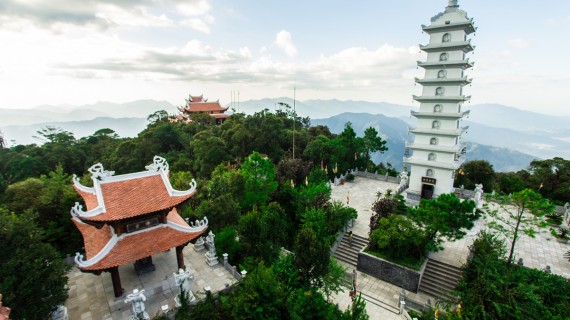
[[[194,280],[190,288],[196,298],[204,296],[204,287],[209,286],[213,292],[220,291],[226,285],[236,282],[235,278],[221,265],[210,267],[206,264],[206,251],[196,252],[193,245],[184,248],[186,269],[192,272]],[[174,283],[177,271],[176,252],[174,249],[154,255],[156,266],[154,272],[137,276],[134,265],[128,264],[119,268],[121,284],[125,289],[122,297],[115,298],[111,275],[102,273],[96,276],[82,273],[77,268],[69,273],[69,298],[65,306],[69,319],[80,320],[119,320],[130,319],[131,305],[125,303],[125,297],[133,289],[144,289],[146,295],[146,310],[152,317],[161,312],[161,306],[168,304],[172,310],[175,306],[174,297],[178,294],[178,286]]]

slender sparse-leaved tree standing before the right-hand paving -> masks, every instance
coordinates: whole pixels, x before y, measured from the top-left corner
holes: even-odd
[[[487,226],[510,240],[511,248],[507,258],[507,267],[510,268],[519,232],[534,238],[535,228],[544,226],[542,218],[554,211],[554,205],[530,189],[508,196],[496,195],[489,199],[496,201],[498,206],[485,204],[485,211],[493,219]]]

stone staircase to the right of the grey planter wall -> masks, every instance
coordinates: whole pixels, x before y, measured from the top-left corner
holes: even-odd
[[[461,279],[461,269],[437,260],[428,259],[418,291],[439,299],[449,300]]]

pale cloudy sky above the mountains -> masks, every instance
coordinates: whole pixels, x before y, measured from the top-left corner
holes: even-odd
[[[295,97],[415,105],[447,0],[2,0],[0,108]],[[470,103],[570,116],[570,1],[459,0]],[[233,92],[233,94],[232,94]],[[358,110],[352,110],[358,111]]]

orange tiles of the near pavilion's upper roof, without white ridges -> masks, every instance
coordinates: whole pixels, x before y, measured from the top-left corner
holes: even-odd
[[[79,217],[87,221],[116,221],[137,217],[151,212],[170,209],[192,197],[171,196],[160,174],[122,181],[100,183],[105,212],[93,217]],[[81,193],[88,210],[92,199]]]

